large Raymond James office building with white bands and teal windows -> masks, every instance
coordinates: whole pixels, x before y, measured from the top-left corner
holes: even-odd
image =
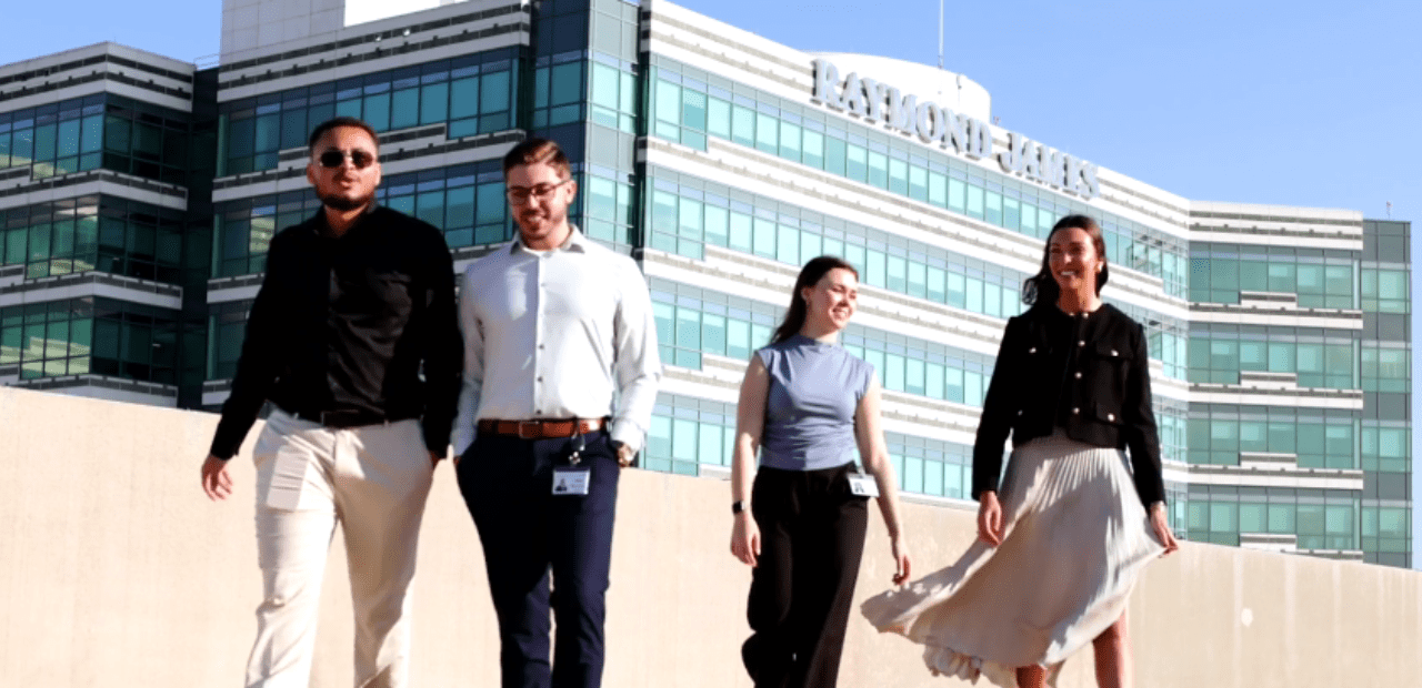
[[[833,253],[860,269],[843,344],[883,381],[904,490],[963,500],[1004,321],[1081,212],[1106,235],[1105,296],[1149,334],[1177,532],[1411,561],[1409,223],[1186,199],[994,124],[964,75],[663,0],[226,0],[215,68],[115,45],[0,68],[0,380],[219,405],[267,242],[317,209],[306,136],[333,115],[383,132],[380,202],[442,227],[456,266],[512,237],[503,152],[565,145],[577,225],[653,294],[646,468],[724,471],[747,358],[799,266]]]

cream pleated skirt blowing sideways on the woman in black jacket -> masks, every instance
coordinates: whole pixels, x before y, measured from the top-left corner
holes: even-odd
[[[1017,687],[1017,667],[1061,664],[1126,610],[1156,542],[1118,449],[1057,434],[1015,448],[1003,544],[975,540],[953,566],[865,601],[880,631],[924,645],[934,674]]]

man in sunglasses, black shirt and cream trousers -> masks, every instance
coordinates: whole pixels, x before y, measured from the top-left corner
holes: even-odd
[[[368,124],[316,127],[310,154],[321,210],[272,239],[202,488],[213,500],[233,493],[228,459],[272,401],[252,452],[264,598],[245,685],[310,679],[338,520],[356,685],[405,687],[419,520],[459,394],[454,263],[439,230],[375,205]]]

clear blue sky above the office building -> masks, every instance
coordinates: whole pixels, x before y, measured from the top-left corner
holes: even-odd
[[[220,40],[219,0],[10,4],[0,64],[102,40],[196,60]],[[937,0],[678,4],[801,50],[937,64]],[[944,67],[985,87],[1011,131],[1194,200],[1368,217],[1391,202],[1422,225],[1422,3],[944,6]]]

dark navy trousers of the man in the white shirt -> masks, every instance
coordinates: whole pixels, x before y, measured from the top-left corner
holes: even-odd
[[[587,496],[552,493],[579,438],[479,434],[459,461],[459,492],[483,544],[499,620],[503,688],[597,688],[617,506],[617,452],[607,431],[582,435]],[[552,584],[549,580],[552,573]],[[549,607],[557,655],[549,665]]]

